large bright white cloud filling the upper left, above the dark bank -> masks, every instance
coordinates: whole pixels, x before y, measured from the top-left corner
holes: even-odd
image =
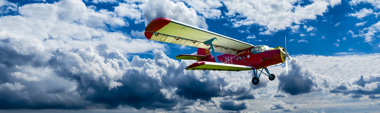
[[[55,51],[59,47],[85,48],[100,43],[121,47],[116,50],[122,53],[141,53],[164,48],[163,44],[150,40],[131,39],[119,32],[108,32],[108,26],[118,28],[127,23],[114,12],[105,9],[95,11],[93,6],[86,7],[80,0],[27,4],[20,6],[19,12],[21,15],[0,19],[0,39],[17,37],[48,51]]]

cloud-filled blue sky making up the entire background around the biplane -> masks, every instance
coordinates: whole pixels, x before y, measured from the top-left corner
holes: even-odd
[[[373,113],[378,0],[0,0],[0,112]],[[167,17],[294,58],[252,71],[186,71],[197,48],[147,40]]]

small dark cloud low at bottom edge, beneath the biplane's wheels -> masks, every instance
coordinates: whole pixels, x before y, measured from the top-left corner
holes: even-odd
[[[222,101],[220,108],[223,110],[240,111],[245,110],[249,106],[248,101]]]

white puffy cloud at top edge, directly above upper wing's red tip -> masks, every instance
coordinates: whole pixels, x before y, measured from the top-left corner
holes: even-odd
[[[206,11],[203,14],[212,14],[208,18],[215,18],[218,16],[218,1],[207,0],[202,2],[200,0],[188,1],[190,4],[202,3],[195,8],[188,8],[183,1],[170,1],[170,0],[126,0],[125,3],[119,3],[115,7],[115,12],[122,16],[135,20],[135,23],[145,22],[147,25],[150,20],[157,17],[166,17],[180,22],[185,22],[189,25],[198,26],[207,29],[205,17],[197,14],[197,11]],[[215,5],[215,6],[212,6]],[[207,17],[207,16],[206,16]]]

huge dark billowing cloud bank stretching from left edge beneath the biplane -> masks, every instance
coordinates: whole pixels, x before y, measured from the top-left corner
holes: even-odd
[[[25,46],[28,45],[28,46]],[[16,38],[0,40],[0,109],[89,109],[134,107],[207,111],[205,103],[225,110],[244,110],[247,101],[228,106],[212,98],[254,99],[266,87],[226,71],[186,71],[193,61],[170,59],[154,50],[154,59],[123,54],[100,44],[93,50],[57,48],[40,51]],[[96,53],[97,51],[98,53]],[[199,104],[199,102],[201,102]]]

